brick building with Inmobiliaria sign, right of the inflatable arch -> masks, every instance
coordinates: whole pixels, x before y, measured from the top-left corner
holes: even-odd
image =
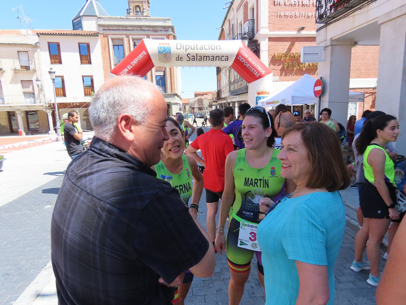
[[[318,78],[319,63],[300,63],[302,46],[316,45],[315,1],[311,0],[233,0],[222,22],[219,38],[248,36],[250,48],[273,73],[273,96],[304,74]],[[365,102],[350,103],[348,115],[361,117],[363,109],[373,109],[379,48],[354,46],[350,91],[365,92]],[[217,99],[221,108],[235,108],[248,101],[248,84],[229,67],[217,68]],[[295,106],[315,111],[315,105]],[[347,115],[347,114],[346,114]],[[342,122],[343,124],[345,122]]]

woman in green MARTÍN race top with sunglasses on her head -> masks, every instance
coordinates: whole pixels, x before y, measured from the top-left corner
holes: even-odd
[[[242,298],[254,254],[258,260],[258,278],[264,285],[261,249],[256,236],[257,225],[265,218],[265,213],[259,211],[261,199],[276,201],[285,189],[294,191],[294,183],[281,176],[281,161],[277,159],[280,150],[273,147],[276,132],[272,127],[273,120],[263,107],[248,109],[242,122],[245,148],[229,153],[226,159],[215,246],[221,255],[223,251],[227,255],[231,274],[230,304],[238,304]],[[228,215],[226,239],[224,226]]]

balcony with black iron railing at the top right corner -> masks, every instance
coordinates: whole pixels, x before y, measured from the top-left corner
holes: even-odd
[[[376,0],[316,0],[316,23],[329,23]]]

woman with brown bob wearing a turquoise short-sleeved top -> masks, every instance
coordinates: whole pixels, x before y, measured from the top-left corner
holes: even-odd
[[[260,202],[261,211],[270,207],[257,231],[266,305],[333,305],[333,271],[346,227],[338,190],[350,185],[339,141],[324,124],[297,124],[283,135],[278,159],[281,176],[296,190],[276,204]]]

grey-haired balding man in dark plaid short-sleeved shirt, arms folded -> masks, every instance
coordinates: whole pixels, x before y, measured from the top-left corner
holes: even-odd
[[[185,270],[210,277],[216,260],[177,190],[150,168],[169,139],[166,102],[143,78],[119,76],[89,115],[95,137],[68,166],[52,214],[58,304],[171,304]]]

